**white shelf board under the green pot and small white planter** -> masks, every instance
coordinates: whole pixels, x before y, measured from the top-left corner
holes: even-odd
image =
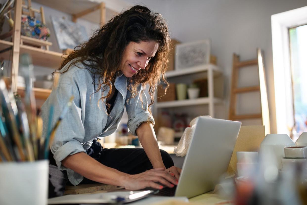
[[[220,98],[213,98],[213,103],[222,103],[223,100]],[[182,107],[182,106],[191,106],[199,104],[209,104],[209,97],[200,97],[196,99],[188,99],[181,101],[168,101],[168,102],[158,102],[156,104],[157,108],[169,108],[169,107]]]

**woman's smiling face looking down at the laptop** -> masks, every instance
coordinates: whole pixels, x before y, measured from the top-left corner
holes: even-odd
[[[130,41],[126,46],[120,70],[126,77],[132,77],[138,70],[145,69],[148,62],[155,56],[159,44],[156,41]]]

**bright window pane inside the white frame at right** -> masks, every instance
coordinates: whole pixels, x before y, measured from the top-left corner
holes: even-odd
[[[307,25],[289,29],[293,114],[297,136],[307,132]]]

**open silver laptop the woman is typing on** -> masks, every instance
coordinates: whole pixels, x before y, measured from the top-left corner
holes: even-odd
[[[227,171],[240,128],[241,122],[199,117],[177,187],[163,188],[157,195],[191,198],[212,191]]]

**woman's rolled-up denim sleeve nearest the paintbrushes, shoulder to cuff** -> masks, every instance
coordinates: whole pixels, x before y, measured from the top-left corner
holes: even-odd
[[[77,83],[74,83],[73,80],[68,81],[67,84],[59,83],[58,88],[52,91],[48,103],[42,107],[43,133],[46,134],[51,103],[54,104],[52,119],[52,126],[54,126],[72,95],[74,96],[72,105],[61,120],[50,147],[60,170],[67,169],[61,164],[61,161],[67,156],[78,152],[85,152],[82,146],[82,143],[84,143],[84,122],[82,120],[80,91]]]

